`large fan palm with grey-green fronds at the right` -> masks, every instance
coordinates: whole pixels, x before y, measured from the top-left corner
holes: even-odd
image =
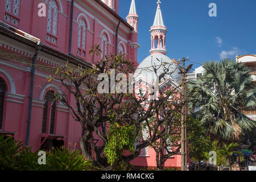
[[[239,140],[255,127],[242,110],[255,109],[256,88],[250,69],[230,59],[203,65],[203,76],[188,83],[191,112],[214,140]]]

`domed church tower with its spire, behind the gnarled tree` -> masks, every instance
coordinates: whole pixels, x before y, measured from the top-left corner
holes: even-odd
[[[151,33],[151,45],[150,45],[150,55],[147,56],[137,67],[134,73],[134,78],[136,82],[139,82],[142,88],[142,92],[147,88],[147,85],[156,85],[158,83],[157,77],[155,75],[153,67],[157,69],[157,75],[160,76],[164,73],[163,64],[166,64],[167,67],[170,65],[169,73],[171,75],[166,75],[165,78],[167,81],[159,80],[159,89],[168,89],[179,88],[181,82],[181,74],[179,74],[178,66],[179,64],[175,59],[171,59],[166,56],[167,47],[166,47],[166,34],[167,27],[164,26],[163,16],[160,9],[160,1],[157,2],[158,6],[156,9],[154,24],[150,28]],[[158,60],[157,60],[158,59]],[[144,90],[146,93],[146,90]],[[138,93],[139,95],[139,90]],[[177,96],[180,97],[180,96]],[[147,107],[146,107],[147,108]],[[143,139],[146,140],[149,137],[147,127],[142,131]],[[174,146],[170,143],[170,146],[167,147],[167,150],[174,150]],[[164,151],[166,154],[167,151]],[[163,154],[163,155],[164,155]],[[187,160],[190,161],[190,160]],[[147,168],[156,168],[156,152],[154,148],[146,147],[141,150],[141,154],[138,158],[131,161],[134,166],[147,167]],[[181,167],[181,156],[173,155],[166,160],[163,165],[164,168],[179,168]]]

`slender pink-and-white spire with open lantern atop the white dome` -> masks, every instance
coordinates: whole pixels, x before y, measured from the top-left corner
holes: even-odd
[[[164,26],[163,15],[160,9],[160,0],[158,0],[158,7],[156,9],[155,20],[153,26],[150,28],[151,33],[151,50],[150,54],[162,53],[166,55],[166,34],[167,28]]]

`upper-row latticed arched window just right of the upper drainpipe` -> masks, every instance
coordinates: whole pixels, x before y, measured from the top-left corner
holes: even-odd
[[[79,35],[77,43],[77,55],[85,56],[86,24],[84,19],[79,20]]]

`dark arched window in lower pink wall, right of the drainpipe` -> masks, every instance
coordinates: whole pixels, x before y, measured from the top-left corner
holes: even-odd
[[[47,133],[47,121],[50,122],[50,134],[53,134],[54,132],[54,124],[55,124],[55,108],[56,108],[56,101],[55,101],[55,95],[53,90],[49,90],[46,93],[46,96],[44,97],[44,100],[46,103],[44,104],[44,110],[43,110],[43,126],[42,126],[42,133]],[[50,115],[49,115],[49,112]],[[50,116],[50,118],[47,118],[47,116]]]

